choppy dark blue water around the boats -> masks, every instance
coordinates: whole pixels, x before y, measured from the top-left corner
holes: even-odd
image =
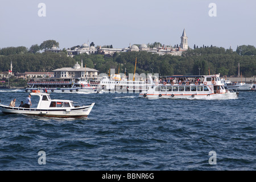
[[[0,90],[6,105],[26,96]],[[240,92],[237,100],[146,100],[118,93],[51,98],[96,104],[79,119],[0,111],[0,170],[256,169],[256,92]],[[46,164],[39,164],[39,151]],[[209,164],[210,151],[216,164]]]

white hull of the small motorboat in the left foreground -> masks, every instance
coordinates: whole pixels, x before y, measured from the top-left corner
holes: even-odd
[[[79,118],[79,117],[88,117],[93,106],[94,106],[94,103],[90,106],[82,106],[82,107],[75,107],[75,108],[36,109],[36,108],[9,107],[9,106],[0,105],[0,109],[4,114],[26,114],[26,115],[38,115],[42,117]]]

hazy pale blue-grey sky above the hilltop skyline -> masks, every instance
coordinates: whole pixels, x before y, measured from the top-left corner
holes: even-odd
[[[40,17],[39,3],[46,5]],[[209,16],[210,3],[216,15]],[[180,44],[183,28],[191,48],[256,46],[256,1],[236,0],[2,0],[0,48],[56,40],[60,48],[160,42]]]

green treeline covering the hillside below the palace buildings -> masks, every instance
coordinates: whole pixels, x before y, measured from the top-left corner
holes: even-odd
[[[55,42],[52,42],[52,44]],[[42,44],[44,48],[51,45]],[[40,45],[41,46],[41,45]],[[40,48],[39,46],[39,48]],[[56,46],[59,46],[58,44]],[[114,53],[113,57],[104,55],[76,55],[73,58],[67,57],[65,51],[53,52],[32,52],[24,47],[2,48],[0,50],[0,71],[10,69],[10,61],[13,62],[14,72],[49,72],[53,69],[73,67],[78,61],[88,68],[94,68],[100,73],[109,72],[114,68],[115,72],[134,72],[135,59],[137,59],[136,72],[159,73],[166,75],[208,75],[221,73],[222,76],[238,75],[238,63],[243,76],[251,77],[256,75],[256,48],[254,46],[239,46],[236,51],[222,47],[203,46],[195,49],[188,49],[182,56],[163,55],[141,52]]]

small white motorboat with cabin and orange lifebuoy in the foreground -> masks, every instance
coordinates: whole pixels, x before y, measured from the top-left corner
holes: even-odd
[[[39,96],[36,108],[10,107],[0,103],[0,109],[5,114],[27,114],[42,117],[80,118],[87,117],[94,103],[89,106],[74,106],[73,101],[51,100],[48,93],[40,93],[38,90],[30,93],[31,96]]]

